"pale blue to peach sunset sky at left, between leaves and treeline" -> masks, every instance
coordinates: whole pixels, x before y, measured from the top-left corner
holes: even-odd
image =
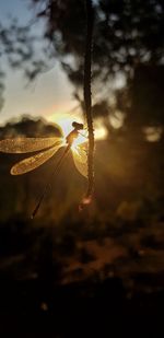
[[[16,16],[20,23],[27,24],[33,19],[28,1],[0,0],[0,20],[8,22],[9,15]],[[8,18],[8,19],[7,19]],[[34,30],[37,25],[34,24]],[[34,83],[28,84],[21,71],[10,70],[8,66],[4,92],[4,106],[0,112],[0,124],[16,118],[22,114],[43,116],[49,118],[55,113],[66,113],[74,107],[72,85],[68,82],[60,65],[55,60],[55,66],[42,73]]]

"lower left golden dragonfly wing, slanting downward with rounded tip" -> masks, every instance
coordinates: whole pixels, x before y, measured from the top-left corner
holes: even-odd
[[[42,151],[31,158],[27,158],[16,163],[11,168],[11,175],[22,175],[35,170],[36,167],[48,161],[62,145],[62,142],[60,142],[60,144],[54,145],[48,150]]]

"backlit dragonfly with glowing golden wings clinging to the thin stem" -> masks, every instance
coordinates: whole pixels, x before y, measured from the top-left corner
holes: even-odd
[[[32,218],[37,213],[40,203],[50,187],[51,179],[58,174],[60,166],[70,152],[72,151],[73,161],[78,171],[84,177],[87,177],[87,137],[82,135],[81,131],[84,129],[84,125],[73,121],[72,130],[63,137],[49,137],[49,138],[15,138],[15,139],[4,139],[0,141],[0,151],[3,153],[31,153],[36,152],[30,158],[15,163],[11,167],[11,175],[22,175],[28,173],[45,162],[52,158],[60,148],[65,151],[60,159],[58,160],[54,172],[51,173],[48,183],[42,196],[36,203],[36,207],[32,213]]]

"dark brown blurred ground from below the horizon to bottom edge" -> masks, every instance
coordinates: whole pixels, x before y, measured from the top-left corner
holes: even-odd
[[[34,222],[54,163],[12,177],[1,154],[0,338],[164,337],[163,148],[141,145],[97,144],[90,217],[68,159]]]

